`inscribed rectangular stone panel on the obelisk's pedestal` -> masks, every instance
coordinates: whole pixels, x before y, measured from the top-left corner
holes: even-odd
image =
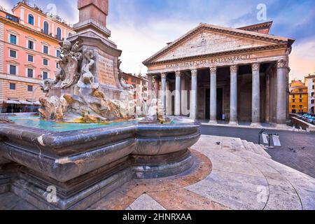
[[[116,86],[113,60],[99,55],[98,73],[99,83]]]

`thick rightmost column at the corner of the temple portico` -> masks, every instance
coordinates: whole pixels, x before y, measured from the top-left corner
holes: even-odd
[[[279,60],[276,70],[276,123],[286,125],[286,76],[288,65],[286,60]]]

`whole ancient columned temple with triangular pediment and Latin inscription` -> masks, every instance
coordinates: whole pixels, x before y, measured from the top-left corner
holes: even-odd
[[[295,40],[269,34],[271,27],[198,25],[143,62],[149,97],[159,98],[167,115],[286,125]]]

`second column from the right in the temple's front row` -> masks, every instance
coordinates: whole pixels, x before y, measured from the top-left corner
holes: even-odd
[[[260,64],[255,63],[251,65],[253,73],[253,90],[251,103],[251,126],[260,126]]]

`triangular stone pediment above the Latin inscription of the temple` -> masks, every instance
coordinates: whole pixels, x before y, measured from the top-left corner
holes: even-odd
[[[288,43],[287,41],[287,38],[202,24],[176,41],[169,43],[167,47],[147,59],[144,64],[263,48],[279,45],[279,43]]]

